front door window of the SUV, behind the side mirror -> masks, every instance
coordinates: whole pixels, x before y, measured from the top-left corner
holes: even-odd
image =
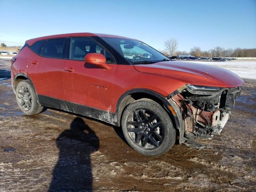
[[[70,59],[84,60],[88,53],[100,53],[106,58],[106,63],[116,63],[114,57],[100,44],[90,38],[71,38]]]

